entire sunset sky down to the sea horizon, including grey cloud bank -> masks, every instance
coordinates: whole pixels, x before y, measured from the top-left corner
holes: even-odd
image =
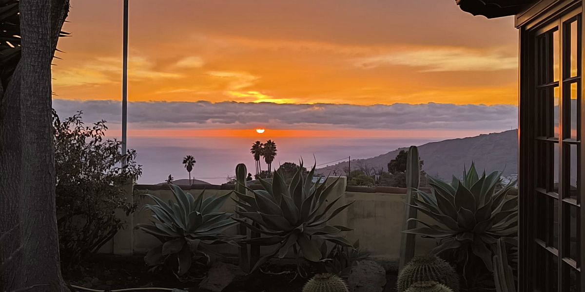
[[[54,107],[105,119],[119,137],[122,0],[73,1],[67,20]],[[510,130],[517,43],[512,18],[453,0],[130,0],[128,135],[432,141]]]

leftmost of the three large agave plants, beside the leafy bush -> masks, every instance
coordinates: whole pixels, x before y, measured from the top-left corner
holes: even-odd
[[[156,267],[171,260],[177,266],[176,274],[181,276],[191,267],[194,255],[208,257],[209,253],[214,253],[209,249],[210,245],[238,246],[235,242],[238,236],[223,234],[227,228],[238,224],[232,220],[233,214],[219,212],[231,193],[203,199],[205,191],[194,197],[176,185],[170,187],[175,201],[169,200],[168,204],[156,196],[146,194],[156,203],[144,206],[152,211],[155,220],[150,224],[136,226],[161,241],[161,245],[144,256],[147,265]]]

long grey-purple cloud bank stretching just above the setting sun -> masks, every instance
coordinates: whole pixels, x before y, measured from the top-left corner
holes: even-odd
[[[56,99],[61,116],[84,110],[86,121],[116,124],[121,106],[111,100]],[[243,102],[131,102],[128,121],[135,128],[267,128],[364,130],[468,130],[517,126],[517,107],[510,105],[291,105]]]

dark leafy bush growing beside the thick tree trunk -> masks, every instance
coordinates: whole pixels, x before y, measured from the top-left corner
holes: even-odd
[[[106,140],[105,121],[85,126],[81,112],[60,120],[53,111],[57,224],[61,261],[69,267],[96,253],[125,222],[117,210],[136,206],[120,188],[142,175],[136,151],[121,154],[121,141]],[[122,159],[127,166],[121,167]]]

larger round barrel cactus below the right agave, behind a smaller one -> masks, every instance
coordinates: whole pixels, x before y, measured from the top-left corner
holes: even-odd
[[[459,276],[445,260],[436,256],[415,256],[398,274],[398,292],[404,292],[413,283],[436,281],[454,292],[459,292]]]

